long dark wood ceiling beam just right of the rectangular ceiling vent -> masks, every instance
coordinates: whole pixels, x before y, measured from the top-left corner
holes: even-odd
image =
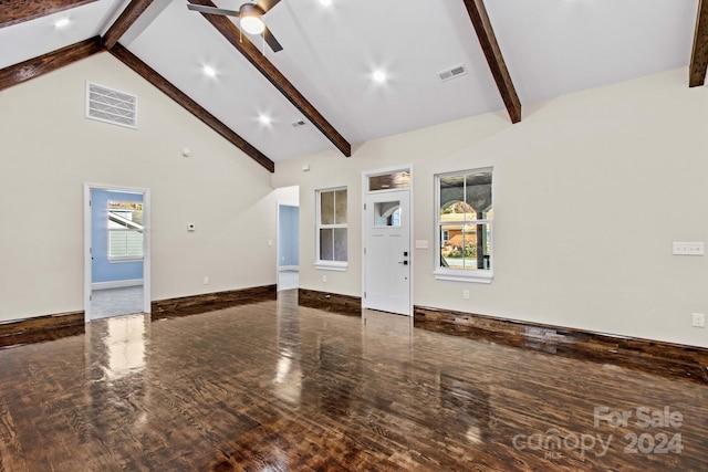
[[[491,28],[491,21],[489,21],[485,2],[482,0],[464,1],[469,18],[472,20],[475,31],[477,32],[479,44],[482,46],[485,57],[487,57],[491,75],[494,77],[497,88],[499,88],[499,93],[501,94],[501,99],[503,99],[507,112],[509,112],[511,123],[519,123],[521,120],[521,102],[511,81],[511,75],[509,75],[501,49],[499,49],[494,30]]]

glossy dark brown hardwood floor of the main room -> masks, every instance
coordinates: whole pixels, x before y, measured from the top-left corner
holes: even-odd
[[[708,470],[708,384],[644,367],[296,291],[98,319],[0,350],[0,471]]]

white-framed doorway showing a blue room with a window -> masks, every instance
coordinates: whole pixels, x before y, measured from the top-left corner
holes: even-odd
[[[85,321],[150,312],[149,190],[84,185]]]

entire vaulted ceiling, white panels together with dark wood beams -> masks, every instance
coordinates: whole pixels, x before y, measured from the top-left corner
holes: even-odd
[[[0,91],[110,51],[273,171],[467,116],[517,123],[522,104],[677,67],[704,86],[708,64],[708,0],[282,0],[264,15],[277,53],[187,8],[242,2],[0,0]]]

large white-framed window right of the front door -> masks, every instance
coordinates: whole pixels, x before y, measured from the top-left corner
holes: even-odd
[[[492,169],[435,177],[436,279],[492,279]]]

